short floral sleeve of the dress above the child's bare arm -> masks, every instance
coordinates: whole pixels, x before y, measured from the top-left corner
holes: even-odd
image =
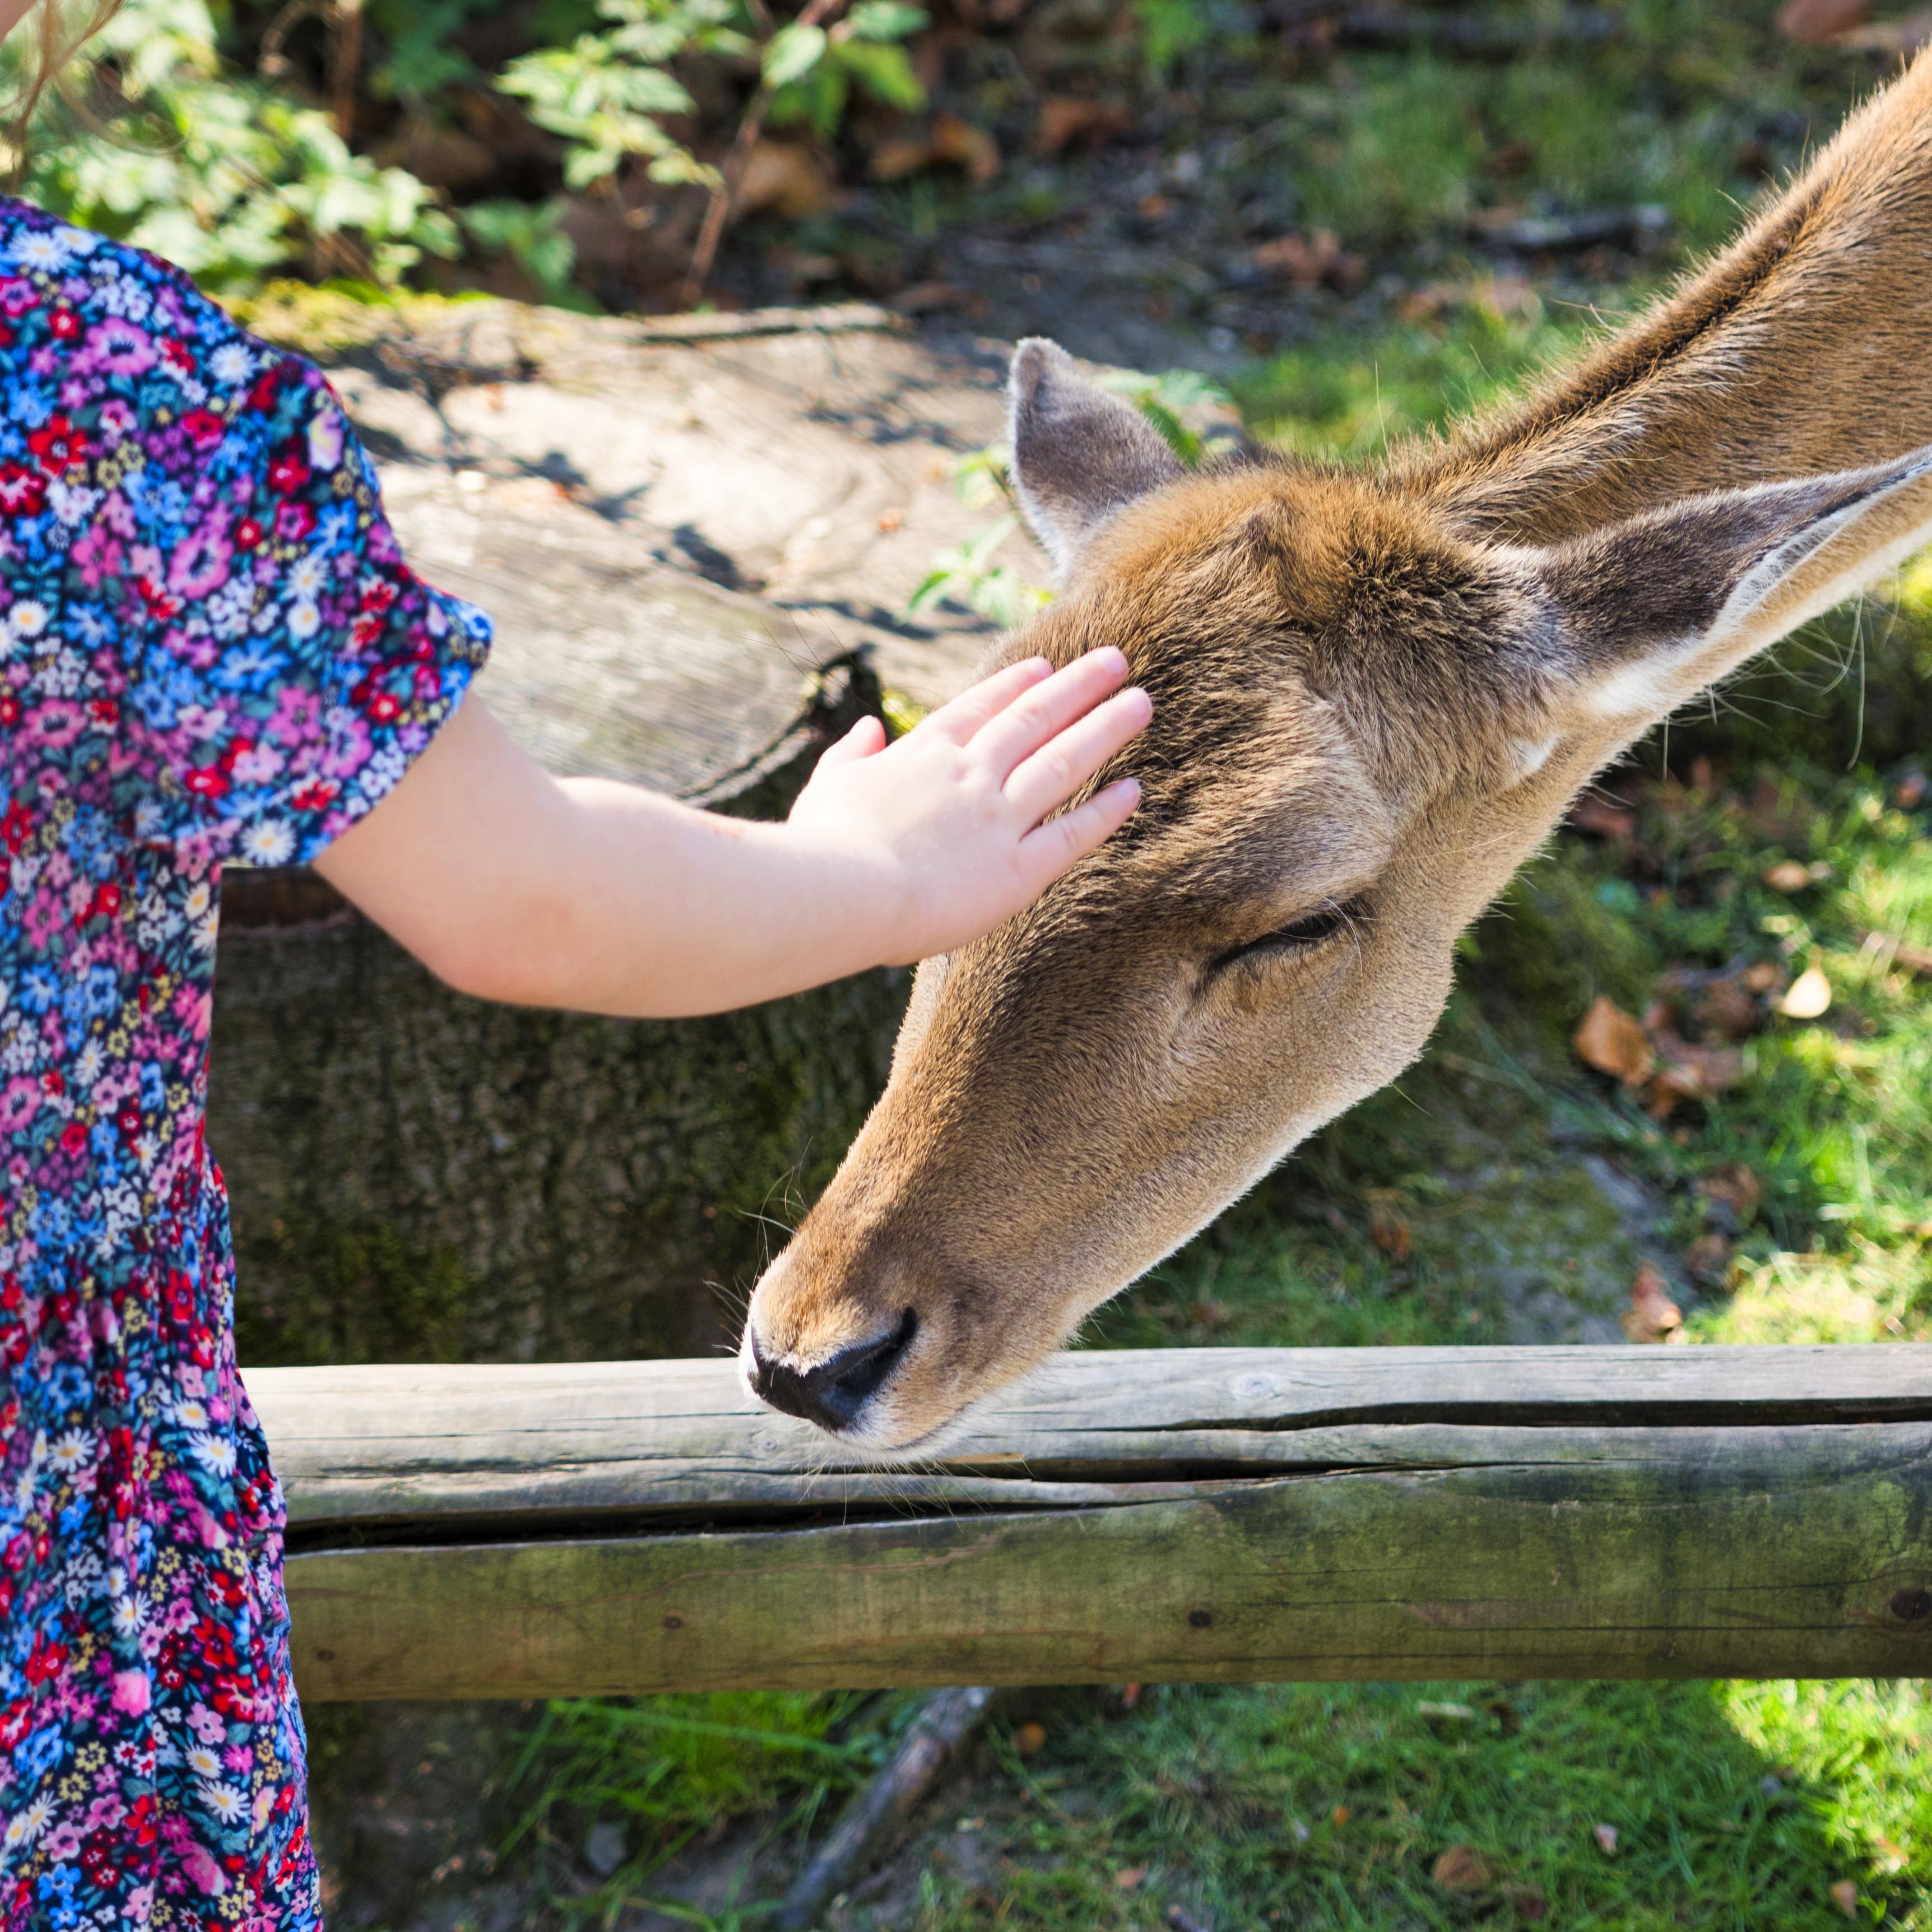
[[[491,628],[408,568],[313,365],[240,332],[211,361],[228,394],[160,429],[133,491],[149,537],[122,724],[147,781],[133,831],[305,864],[458,707]]]

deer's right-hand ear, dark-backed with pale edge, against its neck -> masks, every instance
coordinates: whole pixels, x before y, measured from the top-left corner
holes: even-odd
[[[1534,553],[1561,639],[1549,668],[1594,717],[1665,717],[1928,537],[1932,446],[1689,497]]]

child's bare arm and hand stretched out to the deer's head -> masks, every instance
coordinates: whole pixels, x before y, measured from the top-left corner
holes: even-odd
[[[782,825],[553,779],[471,696],[315,867],[479,999],[746,1007],[964,945],[1092,852],[1134,810],[1132,779],[1049,813],[1148,723],[1124,678],[1115,649],[1028,659],[891,746],[866,719]]]

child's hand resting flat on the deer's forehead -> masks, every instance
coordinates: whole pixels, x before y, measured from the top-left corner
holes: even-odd
[[[879,958],[910,964],[991,931],[1092,852],[1140,800],[1117,779],[1061,808],[1151,717],[1113,649],[1055,670],[1009,665],[895,744],[862,719],[817,763],[786,821],[800,846],[875,879]],[[1051,817],[1051,813],[1061,813]],[[871,896],[871,895],[867,895]]]

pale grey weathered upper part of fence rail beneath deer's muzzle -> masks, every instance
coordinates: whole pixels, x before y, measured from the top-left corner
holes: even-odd
[[[840,1457],[730,1362],[255,1370],[330,1524],[1142,1501],[1337,1466],[1669,1464],[1690,1426],[1932,1420],[1932,1350],[1188,1349],[1061,1356],[916,1470]],[[1646,1434],[1656,1432],[1656,1434]]]

